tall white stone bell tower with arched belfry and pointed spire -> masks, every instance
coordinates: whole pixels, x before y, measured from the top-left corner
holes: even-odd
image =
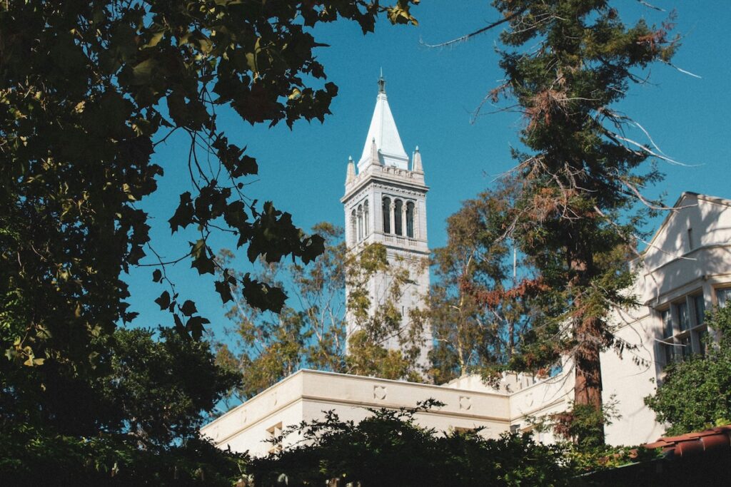
[[[426,239],[426,193],[429,188],[424,183],[419,147],[414,150],[409,164],[409,156],[401,144],[388,106],[383,76],[378,85],[376,108],[363,154],[357,161],[357,172],[352,158],[348,161],[345,195],[341,199],[345,207],[345,239],[352,252],[358,252],[365,244],[381,243],[387,248],[390,263],[400,256],[409,266],[413,283],[407,286],[399,303],[402,326],[406,326],[409,310],[423,307],[423,297],[429,291],[429,269],[423,265],[429,257]],[[371,306],[375,310],[385,294],[385,276],[376,275],[369,287]],[[354,323],[348,323],[348,336],[355,331],[354,326]],[[427,324],[421,365],[428,364],[431,340],[431,327]],[[384,346],[398,349],[398,337],[391,338]]]

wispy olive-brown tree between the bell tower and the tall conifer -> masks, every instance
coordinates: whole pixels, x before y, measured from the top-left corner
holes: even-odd
[[[432,259],[429,318],[437,383],[468,373],[494,380],[515,367],[521,338],[538,318],[539,282],[525,256],[518,258],[504,238],[519,189],[518,181],[505,180],[447,218],[447,245],[434,250]]]

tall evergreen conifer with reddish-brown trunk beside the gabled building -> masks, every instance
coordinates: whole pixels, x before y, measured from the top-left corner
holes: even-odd
[[[661,177],[649,146],[624,135],[634,122],[613,107],[678,47],[672,26],[625,26],[607,0],[496,0],[504,16],[500,66],[491,92],[515,99],[525,116],[524,151],[513,173],[523,181],[508,226],[539,271],[552,326],[534,330],[532,363],[572,358],[576,415],[594,418],[588,436],[604,441],[600,353],[622,348],[607,315],[633,304],[621,291],[642,221],[643,188]]]

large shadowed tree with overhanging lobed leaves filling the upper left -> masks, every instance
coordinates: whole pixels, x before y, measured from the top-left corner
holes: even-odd
[[[326,81],[325,67],[314,55],[323,47],[315,28],[342,19],[357,23],[365,34],[382,13],[392,23],[415,24],[409,7],[416,3],[0,4],[4,426],[23,424],[46,440],[56,432],[79,440],[134,428],[151,441],[167,442],[156,427],[140,423],[141,410],[117,402],[111,411],[103,407],[99,381],[113,380],[117,354],[124,352],[115,329],[135,318],[129,312],[126,272],[151,266],[152,279],[161,286],[152,299],[170,311],[181,339],[198,339],[208,319],[197,311],[194,296],[175,291],[168,265],[186,261],[200,274],[220,271],[215,289],[226,302],[235,277],[216,268],[212,234],[235,237],[251,261],[291,257],[308,264],[323,250],[322,237],[304,234],[289,213],[246,197],[244,181],[257,174],[260,161],[230,142],[217,125],[216,112],[225,108],[242,121],[269,126],[323,120],[337,87]],[[162,164],[156,147],[173,132],[189,142],[189,155]],[[190,179],[168,216],[179,254],[164,261],[150,240],[150,215],[140,202],[156,191],[163,166],[173,164],[185,167]],[[183,229],[186,239],[181,242]],[[187,242],[190,234],[194,237]],[[284,303],[281,290],[250,276],[235,283],[254,307],[280,310]],[[197,353],[200,358],[203,350]],[[130,364],[129,378],[155,371],[154,364],[162,367],[152,358]],[[214,375],[220,372],[212,364],[206,367]],[[208,394],[211,400],[218,393],[206,392],[209,386],[221,384],[209,381],[188,392]],[[173,390],[170,383],[168,392]],[[132,392],[127,399],[145,401]],[[204,404],[194,401],[185,414],[208,407]],[[151,418],[162,421],[168,413]],[[181,435],[173,432],[178,440]],[[84,440],[79,441],[85,449]]]

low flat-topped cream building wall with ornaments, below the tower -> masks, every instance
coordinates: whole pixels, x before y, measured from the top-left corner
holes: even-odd
[[[323,412],[329,410],[344,421],[360,421],[371,414],[369,407],[416,407],[417,402],[426,399],[445,405],[415,415],[417,423],[425,428],[449,432],[484,427],[485,437],[497,437],[510,425],[510,407],[504,393],[300,370],[208,423],[201,433],[219,448],[249,450],[260,456],[272,448],[265,440],[275,427],[323,418]],[[285,445],[298,440],[292,435],[285,439]]]

